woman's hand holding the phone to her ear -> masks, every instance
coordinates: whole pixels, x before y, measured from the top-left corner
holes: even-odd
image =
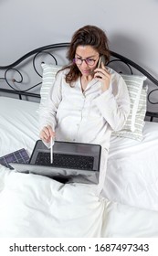
[[[111,83],[111,73],[105,68],[103,62],[101,62],[101,68],[95,69],[94,72],[94,79],[100,80],[102,91],[107,91]]]

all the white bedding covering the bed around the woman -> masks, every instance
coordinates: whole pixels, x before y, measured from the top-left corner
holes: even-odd
[[[0,97],[0,156],[38,139],[38,104]],[[103,193],[0,165],[0,237],[158,237],[158,123],[111,139]],[[135,158],[136,157],[136,158]],[[152,159],[152,161],[151,161]]]

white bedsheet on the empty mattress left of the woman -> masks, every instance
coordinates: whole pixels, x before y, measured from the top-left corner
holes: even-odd
[[[0,156],[20,148],[30,155],[38,138],[38,103],[0,97]]]

